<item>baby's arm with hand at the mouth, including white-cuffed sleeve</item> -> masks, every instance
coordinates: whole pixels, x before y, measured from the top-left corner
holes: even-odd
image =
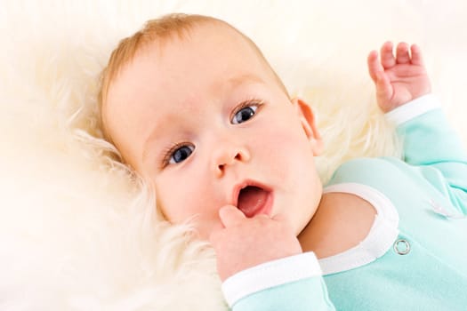
[[[210,240],[232,310],[334,310],[318,259],[313,252],[302,253],[285,217],[248,219],[229,205],[219,216],[223,227]]]

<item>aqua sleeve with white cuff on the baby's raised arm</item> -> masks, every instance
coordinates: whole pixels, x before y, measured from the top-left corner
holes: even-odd
[[[425,179],[467,214],[467,154],[448,124],[439,101],[425,95],[386,115],[398,125],[404,161],[419,166]]]

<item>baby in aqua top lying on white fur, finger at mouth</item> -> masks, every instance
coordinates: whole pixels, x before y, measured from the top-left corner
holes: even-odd
[[[379,107],[405,159],[362,158],[323,187],[313,111],[229,24],[174,14],[125,38],[102,74],[101,121],[191,219],[234,310],[461,310],[467,306],[467,156],[430,94],[416,45],[370,52]],[[379,55],[381,54],[381,55]]]

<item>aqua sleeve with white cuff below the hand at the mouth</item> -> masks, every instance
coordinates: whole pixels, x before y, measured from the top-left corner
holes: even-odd
[[[222,283],[222,291],[233,311],[335,310],[313,252],[240,271]]]

